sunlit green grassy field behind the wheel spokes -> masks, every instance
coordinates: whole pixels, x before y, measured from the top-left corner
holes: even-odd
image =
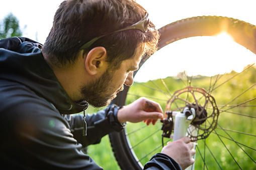
[[[244,107],[234,107],[230,109],[230,107],[236,104],[243,103],[256,97],[256,88],[253,86],[256,82],[255,72],[256,69],[251,67],[244,71],[241,76],[235,76],[237,73],[231,72],[220,78],[217,76],[212,78],[203,76],[193,78],[191,83],[192,86],[203,87],[206,90],[209,88],[209,82],[214,84],[213,80],[219,80],[215,84],[215,88],[217,88],[214,89],[211,94],[216,99],[218,108],[221,108],[217,128],[207,139],[198,141],[196,148],[196,169],[219,169],[219,166],[223,169],[255,169],[255,107],[246,107],[245,105],[256,105],[256,100],[242,104]],[[229,78],[232,79],[225,82]],[[164,79],[164,82],[172,94],[174,91],[185,87],[184,83],[176,77],[167,77]],[[218,87],[218,85],[221,86]],[[147,88],[148,86],[155,89],[166,89],[161,80],[146,82],[143,83],[143,85],[135,83],[129,90],[127,103],[135,101],[139,96],[145,96],[159,102],[164,110],[166,105],[166,90],[163,93],[159,90],[149,89]],[[253,87],[247,89],[250,86]],[[236,98],[236,96],[239,97]],[[232,101],[232,99],[234,100]],[[229,101],[231,102],[229,103]],[[222,105],[227,103],[229,106],[222,108]],[[242,113],[247,116],[241,116],[236,113]],[[249,116],[254,117],[252,118]],[[134,152],[142,164],[145,164],[154,153],[160,152],[162,133],[161,130],[159,130],[160,128],[160,122],[157,122],[155,126],[145,126],[143,122],[127,124],[128,137]],[[227,130],[223,131],[221,128]],[[132,132],[134,129],[141,130],[130,134],[129,132]],[[236,131],[242,133],[237,133]],[[147,136],[150,137],[146,138]],[[143,142],[141,142],[141,140],[143,140]],[[166,140],[167,139],[165,139],[165,141]],[[205,145],[205,143],[207,145]],[[209,151],[209,149],[211,151]],[[113,155],[108,136],[105,136],[100,144],[89,146],[88,154],[99,165],[104,167],[104,169],[120,169]],[[206,163],[204,163],[202,159],[204,159]],[[215,159],[217,160],[217,163]]]

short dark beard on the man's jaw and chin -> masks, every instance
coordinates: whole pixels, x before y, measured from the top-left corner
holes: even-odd
[[[82,98],[86,100],[93,107],[104,107],[116,97],[116,94],[124,89],[122,86],[117,91],[114,91],[110,84],[113,84],[114,71],[107,71],[95,82],[81,87],[80,93]],[[108,93],[109,92],[109,93]]]

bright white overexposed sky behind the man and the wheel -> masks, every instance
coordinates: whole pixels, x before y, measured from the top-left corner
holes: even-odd
[[[13,13],[20,21],[23,36],[43,44],[52,27],[55,11],[61,2],[62,0],[2,0],[0,21],[9,13]],[[137,0],[137,3],[149,12],[150,21],[157,29],[172,22],[196,16],[224,16],[256,25],[255,0]],[[188,71],[188,74],[214,75],[217,72],[231,71],[231,68],[241,70],[247,65],[242,61],[246,61],[248,64],[256,61],[254,54],[252,55],[248,50],[231,42],[229,38],[189,38],[168,46],[170,47],[158,51],[150,58],[152,64],[148,64],[147,68],[145,66],[145,72],[141,72],[141,76],[136,75],[135,80],[146,81],[149,77],[158,78],[159,74],[155,74],[155,72],[159,70],[161,70],[161,78],[164,78],[167,74],[175,75],[189,67],[192,67],[191,70],[198,71]],[[225,58],[226,56],[230,56],[230,58],[224,59],[223,55]],[[188,58],[186,61],[189,62],[184,62],[186,57]],[[195,59],[195,57],[199,57],[199,59]],[[202,63],[191,64],[193,60],[200,60]],[[209,68],[207,63],[211,63],[210,65],[213,67]],[[226,68],[228,67],[227,63],[234,65]],[[195,66],[196,64],[197,66]],[[241,66],[238,68],[236,65]],[[220,68],[223,68],[223,71],[220,71]]]

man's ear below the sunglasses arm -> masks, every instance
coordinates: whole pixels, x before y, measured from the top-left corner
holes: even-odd
[[[85,66],[87,72],[91,75],[95,75],[99,72],[105,72],[107,68],[107,50],[104,47],[93,48],[86,57]]]

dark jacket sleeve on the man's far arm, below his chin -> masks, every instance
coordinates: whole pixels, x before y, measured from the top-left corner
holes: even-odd
[[[109,105],[105,110],[101,110],[94,114],[86,115],[87,135],[83,136],[83,115],[66,115],[70,130],[78,143],[83,147],[90,144],[100,143],[101,138],[110,132],[123,130],[116,117],[116,113],[120,107],[115,104]]]

